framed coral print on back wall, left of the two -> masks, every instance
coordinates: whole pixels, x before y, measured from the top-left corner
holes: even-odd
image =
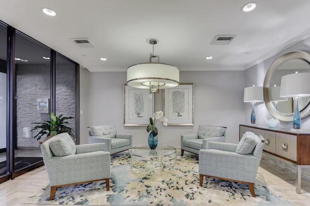
[[[146,126],[153,116],[154,96],[148,89],[124,84],[124,126]]]

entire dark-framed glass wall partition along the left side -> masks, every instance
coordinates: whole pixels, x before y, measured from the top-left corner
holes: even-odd
[[[78,144],[78,64],[0,21],[0,183],[43,165],[36,125],[72,117]],[[48,132],[48,131],[47,131]]]

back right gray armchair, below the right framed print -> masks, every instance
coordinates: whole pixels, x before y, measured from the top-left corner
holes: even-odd
[[[209,142],[225,142],[226,127],[199,125],[198,132],[181,135],[181,156],[184,151],[199,153],[207,149]]]

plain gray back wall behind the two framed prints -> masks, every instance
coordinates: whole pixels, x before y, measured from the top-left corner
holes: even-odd
[[[180,72],[181,83],[194,83],[194,126],[167,126],[156,121],[158,144],[180,147],[181,134],[197,132],[200,124],[227,127],[229,143],[239,141],[244,123],[245,71]],[[113,124],[117,132],[133,134],[133,145],[147,144],[146,126],[124,126],[123,85],[126,72],[80,69],[80,144],[87,144],[87,127]],[[155,111],[163,110],[162,91],[155,94]]]

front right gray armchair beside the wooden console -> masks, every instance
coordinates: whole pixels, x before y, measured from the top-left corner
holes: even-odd
[[[239,144],[210,142],[199,151],[199,178],[214,177],[248,184],[253,197],[254,181],[264,146],[262,135],[246,132]]]

